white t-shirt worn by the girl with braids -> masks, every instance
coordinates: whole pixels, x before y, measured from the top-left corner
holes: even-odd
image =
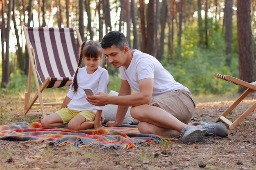
[[[72,99],[68,104],[67,107],[70,110],[79,110],[84,111],[88,110],[94,114],[96,114],[97,110],[103,110],[103,106],[94,106],[90,104],[86,100],[86,94],[83,91],[84,88],[91,88],[93,93],[96,94],[98,92],[107,93],[108,88],[108,71],[105,68],[99,66],[97,70],[92,73],[88,74],[87,66],[83,68],[79,68],[77,73],[77,92],[74,93],[74,89],[72,88],[72,84],[70,85],[70,91],[67,93],[67,97]],[[74,80],[74,75],[73,75]],[[72,83],[73,83],[72,80]]]

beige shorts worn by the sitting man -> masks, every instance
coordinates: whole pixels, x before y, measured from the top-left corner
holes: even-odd
[[[184,90],[167,92],[152,97],[150,105],[164,109],[185,124],[191,121],[195,110],[193,97]]]

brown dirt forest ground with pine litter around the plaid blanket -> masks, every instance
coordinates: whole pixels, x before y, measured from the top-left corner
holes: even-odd
[[[1,96],[1,95],[0,95]],[[256,102],[247,99],[232,111],[234,119]],[[196,102],[192,122],[216,121],[232,101]],[[0,124],[37,121],[22,114],[22,102],[1,97]],[[0,140],[1,170],[256,170],[256,112],[253,111],[228,137],[204,137],[195,144],[148,144],[139,148],[77,148]]]

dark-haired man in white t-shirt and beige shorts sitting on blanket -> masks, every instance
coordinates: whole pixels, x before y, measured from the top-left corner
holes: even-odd
[[[155,57],[130,49],[123,33],[110,31],[102,39],[101,46],[108,62],[119,68],[119,95],[98,93],[88,96],[87,100],[96,106],[118,105],[115,121],[108,121],[107,126],[121,125],[128,106],[132,106],[130,114],[139,120],[141,133],[162,136],[181,134],[185,144],[201,141],[207,135],[207,129],[211,135],[227,134],[226,126],[219,122],[213,124],[207,121],[199,126],[188,126],[195,109],[189,89],[176,82]]]

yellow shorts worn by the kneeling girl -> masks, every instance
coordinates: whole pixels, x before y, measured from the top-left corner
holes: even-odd
[[[70,110],[69,108],[62,108],[61,110],[56,111],[56,113],[61,117],[63,124],[68,124],[73,117],[76,115],[82,115],[86,121],[94,121],[95,114],[85,110],[85,111],[78,111],[78,110]]]

